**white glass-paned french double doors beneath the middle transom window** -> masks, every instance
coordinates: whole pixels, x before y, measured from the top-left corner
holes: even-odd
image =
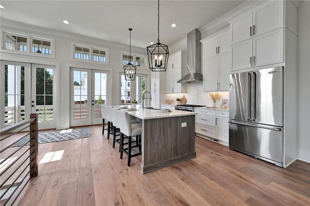
[[[70,126],[102,124],[100,105],[109,103],[109,72],[70,69]]]

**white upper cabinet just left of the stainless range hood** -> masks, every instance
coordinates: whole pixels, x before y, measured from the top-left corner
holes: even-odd
[[[178,51],[169,56],[166,71],[166,93],[186,93],[186,84],[177,83],[186,75],[186,54]]]

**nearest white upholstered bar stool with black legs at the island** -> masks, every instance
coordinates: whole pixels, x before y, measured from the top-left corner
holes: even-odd
[[[129,114],[125,111],[117,111],[118,115],[118,121],[120,121],[120,129],[121,129],[121,159],[123,159],[123,152],[128,155],[128,162],[127,166],[130,166],[130,160],[132,157],[136,157],[141,152],[141,134],[142,134],[142,124],[130,124],[130,117]],[[124,148],[124,135],[128,137],[128,147]],[[136,140],[134,141],[136,144],[132,145],[132,138],[136,137]],[[139,152],[132,154],[131,149],[139,147]]]

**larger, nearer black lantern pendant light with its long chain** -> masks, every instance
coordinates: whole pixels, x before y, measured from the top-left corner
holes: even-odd
[[[150,70],[153,72],[165,72],[167,69],[169,51],[168,46],[159,43],[159,0],[158,0],[158,39],[157,44],[152,44],[147,49],[147,57]]]

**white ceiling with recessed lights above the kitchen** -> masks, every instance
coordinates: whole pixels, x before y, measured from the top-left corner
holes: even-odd
[[[160,43],[175,44],[245,1],[161,0]],[[0,4],[5,7],[0,10],[3,19],[121,44],[129,44],[132,28],[132,46],[157,42],[157,0],[0,0]]]

